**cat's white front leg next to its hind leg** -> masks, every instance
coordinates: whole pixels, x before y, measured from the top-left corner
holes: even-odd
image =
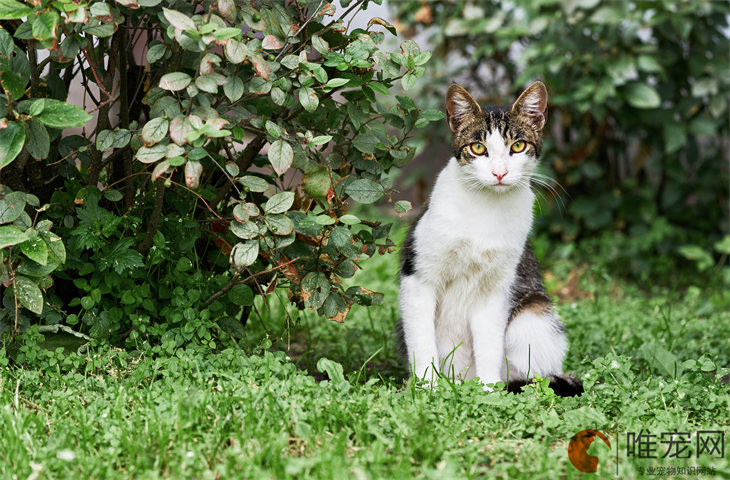
[[[485,385],[501,380],[504,363],[504,330],[509,317],[507,295],[492,293],[477,302],[469,316],[469,328],[474,342],[476,376]]]

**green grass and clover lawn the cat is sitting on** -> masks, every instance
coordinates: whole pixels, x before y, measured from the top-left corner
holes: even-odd
[[[521,395],[416,387],[393,335],[397,258],[380,257],[356,280],[383,292],[383,305],[353,308],[344,325],[270,298],[257,303],[240,348],[102,351],[65,374],[3,368],[0,478],[616,478],[617,435],[618,478],[695,465],[727,478],[730,460],[694,452],[696,431],[730,423],[730,386],[719,381],[730,355],[727,294],[629,285],[558,253],[547,283],[569,295],[557,307],[582,397],[540,385]],[[589,449],[598,476],[567,457],[571,436],[587,428],[613,447]],[[662,459],[659,443],[658,459],[627,458],[626,434],[641,429],[690,432],[691,458]]]

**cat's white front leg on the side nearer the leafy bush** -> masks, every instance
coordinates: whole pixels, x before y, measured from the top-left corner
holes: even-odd
[[[400,285],[401,329],[411,373],[431,383],[436,380],[436,293],[418,275],[404,275]]]

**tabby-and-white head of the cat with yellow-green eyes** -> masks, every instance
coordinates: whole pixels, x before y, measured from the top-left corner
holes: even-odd
[[[446,110],[462,179],[474,190],[529,187],[542,147],[547,89],[535,82],[511,107],[482,110],[469,92],[451,85]]]

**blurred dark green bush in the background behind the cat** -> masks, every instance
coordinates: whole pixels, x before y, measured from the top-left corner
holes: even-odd
[[[609,260],[634,273],[669,272],[698,250],[728,253],[727,3],[393,5],[437,46],[424,102],[440,103],[455,78],[501,104],[545,80],[544,173],[567,195],[547,192],[557,208],[540,228],[563,241],[602,237],[596,247],[611,246]]]

